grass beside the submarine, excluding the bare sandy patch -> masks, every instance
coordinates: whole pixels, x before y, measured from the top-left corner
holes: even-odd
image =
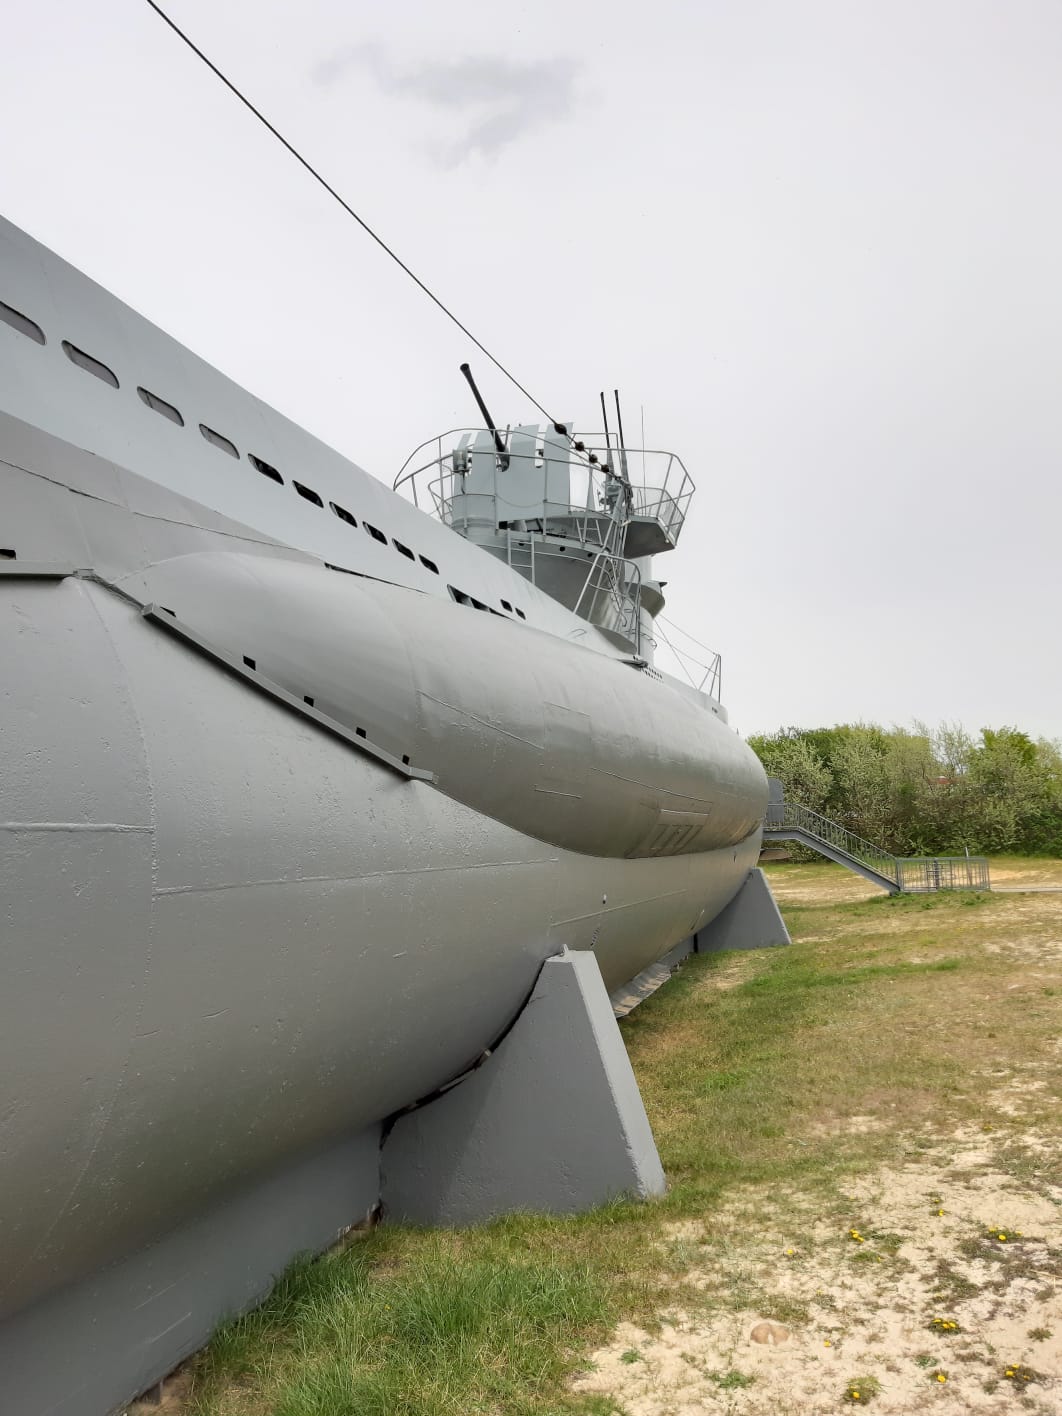
[[[770,874],[811,886],[837,878],[814,865]],[[572,1392],[569,1378],[620,1318],[653,1331],[664,1313],[700,1304],[807,1323],[806,1306],[786,1307],[752,1274],[684,1287],[691,1267],[711,1272],[715,1246],[739,1242],[716,1225],[728,1204],[765,1189],[800,1197],[841,1240],[857,1219],[844,1197],[851,1177],[918,1155],[963,1124],[991,1129],[1014,1174],[1032,1172],[1021,1127],[978,1080],[984,1069],[1035,1061],[1046,1085],[1029,1104],[1056,1129],[1056,1005],[1042,977],[1027,986],[995,947],[1015,933],[1056,937],[1028,899],[804,895],[783,906],[792,947],[690,959],[623,1022],[667,1197],[460,1232],[385,1225],[300,1262],[195,1359],[190,1412],[610,1416],[615,1402]],[[666,1231],[675,1222],[694,1238]],[[868,1231],[852,1253],[902,1264],[899,1245],[899,1235]],[[1012,1266],[1022,1257],[997,1246]],[[1038,1272],[1055,1277],[1056,1266]],[[935,1277],[939,1311],[978,1291],[943,1260]],[[814,1301],[830,1307],[828,1294]],[[637,1348],[624,1361],[637,1369]],[[1028,1369],[1015,1371],[1007,1381],[1022,1385]],[[724,1372],[716,1385],[745,1381]],[[838,1392],[848,1405],[875,1395],[869,1376]]]

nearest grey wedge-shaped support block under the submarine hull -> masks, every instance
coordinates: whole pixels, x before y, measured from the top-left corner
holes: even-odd
[[[575,1214],[615,1195],[663,1192],[592,953],[548,959],[496,1052],[399,1117],[382,1153],[384,1212],[416,1223],[467,1225],[514,1209]]]

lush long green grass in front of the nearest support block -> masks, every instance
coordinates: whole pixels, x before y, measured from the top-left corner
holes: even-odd
[[[381,1229],[296,1263],[261,1308],[221,1328],[201,1361],[197,1409],[531,1412],[605,1314],[599,1273],[515,1252],[504,1228],[466,1243]]]

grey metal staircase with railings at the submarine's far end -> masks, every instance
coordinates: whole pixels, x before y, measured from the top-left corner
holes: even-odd
[[[763,841],[796,841],[844,865],[889,895],[925,895],[940,889],[991,889],[983,855],[891,855],[810,807],[783,801],[770,779],[772,800],[763,820]]]

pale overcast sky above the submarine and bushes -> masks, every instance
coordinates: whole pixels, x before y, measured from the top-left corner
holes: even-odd
[[[1062,736],[1058,0],[171,0],[555,416],[671,447],[745,732]],[[4,214],[391,483],[534,409],[143,0],[8,0]]]

